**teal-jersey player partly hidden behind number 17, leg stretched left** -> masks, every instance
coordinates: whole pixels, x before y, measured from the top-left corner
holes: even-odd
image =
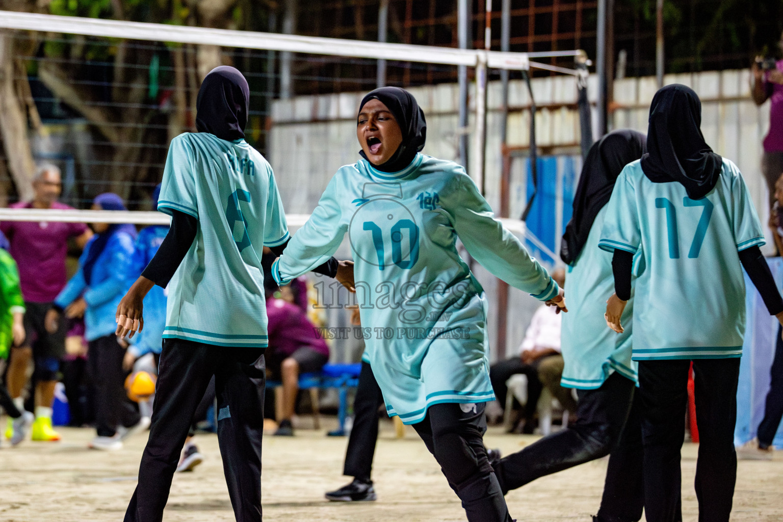
[[[637,363],[631,360],[633,299],[628,297],[622,316],[625,331],[612,332],[603,317],[615,287],[612,254],[598,247],[615,180],[626,164],[641,157],[644,141],[643,134],[622,129],[590,147],[561,243],[571,310],[562,325],[561,385],[575,388],[579,396],[576,423],[493,465],[505,492],[611,452],[594,522],[636,522],[644,506]]]

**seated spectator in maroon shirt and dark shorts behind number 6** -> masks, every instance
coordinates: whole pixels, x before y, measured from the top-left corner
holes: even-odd
[[[273,298],[270,293],[266,315],[269,319],[267,369],[274,379],[283,382],[283,411],[275,434],[290,436],[294,434],[291,417],[299,392],[299,374],[320,372],[329,362],[329,347],[305,311],[296,304]]]

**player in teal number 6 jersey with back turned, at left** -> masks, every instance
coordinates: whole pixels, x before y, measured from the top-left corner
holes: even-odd
[[[157,207],[171,215],[171,229],[117,307],[117,336],[132,337],[143,327],[146,293],[155,284],[168,286],[150,438],[126,522],[162,519],[179,452],[212,376],[234,516],[262,520],[267,318],[261,257],[263,247],[274,251],[287,242],[288,229],[272,168],[244,139],[249,108],[240,71],[217,67],[204,78],[198,132],[171,140],[164,168]],[[337,261],[327,265],[335,275]]]

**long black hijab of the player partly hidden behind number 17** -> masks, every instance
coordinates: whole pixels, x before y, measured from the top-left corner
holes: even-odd
[[[571,265],[582,251],[598,212],[609,202],[622,168],[644,154],[644,134],[612,131],[590,147],[574,196],[574,212],[565,226],[560,257]]]

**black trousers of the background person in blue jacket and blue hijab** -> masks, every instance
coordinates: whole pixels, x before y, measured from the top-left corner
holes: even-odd
[[[117,427],[132,427],[139,422],[139,410],[125,391],[122,359],[125,351],[114,333],[88,343],[88,363],[95,383],[96,431],[99,437],[113,437]]]

